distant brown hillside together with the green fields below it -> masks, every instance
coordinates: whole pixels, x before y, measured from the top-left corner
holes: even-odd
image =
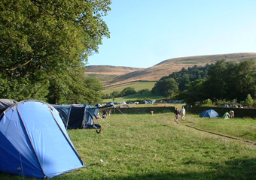
[[[190,68],[194,65],[205,66],[215,63],[217,60],[225,58],[227,62],[239,62],[248,58],[256,58],[256,53],[233,53],[222,55],[199,55],[182,58],[170,58],[151,68],[128,68],[117,66],[88,66],[86,77],[96,77],[104,85],[104,94],[111,92],[121,92],[126,87],[133,87],[136,91],[141,89],[151,90],[154,84],[161,77],[168,76],[175,71],[181,71],[182,68]],[[115,101],[128,101],[136,99],[160,99],[148,93],[148,95],[133,95],[129,97],[116,98]],[[112,101],[110,99],[104,101]]]

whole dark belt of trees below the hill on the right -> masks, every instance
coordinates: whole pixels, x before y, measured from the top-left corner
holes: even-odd
[[[218,60],[215,64],[182,69],[163,77],[152,93],[183,99],[188,104],[198,101],[245,101],[256,98],[256,64],[254,59],[242,62]]]

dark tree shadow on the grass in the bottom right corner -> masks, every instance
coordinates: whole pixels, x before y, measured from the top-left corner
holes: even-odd
[[[120,180],[137,180],[137,179],[151,179],[151,180],[168,180],[168,179],[256,179],[256,158],[253,159],[236,159],[229,160],[224,165],[210,163],[206,166],[211,167],[211,171],[206,172],[163,172],[163,173],[145,173],[145,175],[130,175],[127,177],[111,177],[104,179],[120,179]],[[153,170],[154,171],[154,170]]]

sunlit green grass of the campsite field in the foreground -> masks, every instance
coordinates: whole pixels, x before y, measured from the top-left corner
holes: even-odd
[[[87,168],[52,179],[256,179],[254,119],[186,115],[176,124],[173,118],[111,115],[99,119],[102,133],[69,130]]]

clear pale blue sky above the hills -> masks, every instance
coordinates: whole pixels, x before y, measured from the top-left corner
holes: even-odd
[[[87,65],[150,68],[169,58],[256,52],[255,0],[112,0],[110,38]]]

